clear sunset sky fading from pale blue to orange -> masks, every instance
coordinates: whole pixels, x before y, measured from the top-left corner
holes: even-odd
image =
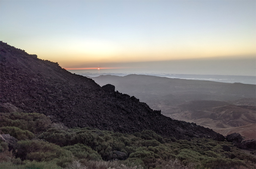
[[[255,76],[256,1],[1,0],[0,40],[66,69]]]

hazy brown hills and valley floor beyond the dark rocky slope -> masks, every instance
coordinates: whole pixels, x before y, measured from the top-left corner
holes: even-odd
[[[173,119],[195,122],[224,135],[238,132],[255,138],[255,85],[136,74],[90,78],[101,86],[112,84]]]

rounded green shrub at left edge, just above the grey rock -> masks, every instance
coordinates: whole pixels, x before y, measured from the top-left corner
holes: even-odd
[[[17,138],[18,140],[24,140],[24,139],[32,139],[35,138],[35,135],[28,131],[28,130],[22,130],[18,127],[1,127],[0,128],[5,134],[10,134],[11,136]]]

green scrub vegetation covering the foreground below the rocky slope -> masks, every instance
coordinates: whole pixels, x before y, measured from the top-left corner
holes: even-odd
[[[226,141],[66,128],[39,113],[1,113],[0,129],[18,140],[14,149],[1,140],[0,168],[255,168],[254,156]]]

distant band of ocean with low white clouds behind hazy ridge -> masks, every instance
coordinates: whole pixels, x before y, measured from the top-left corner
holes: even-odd
[[[235,75],[209,75],[209,74],[169,74],[169,73],[154,73],[143,72],[134,69],[78,69],[67,70],[71,73],[82,76],[97,77],[100,75],[116,75],[126,76],[128,74],[144,74],[159,77],[177,78],[177,79],[191,79],[191,80],[210,80],[224,83],[244,83],[256,84],[256,76],[235,76]]]

